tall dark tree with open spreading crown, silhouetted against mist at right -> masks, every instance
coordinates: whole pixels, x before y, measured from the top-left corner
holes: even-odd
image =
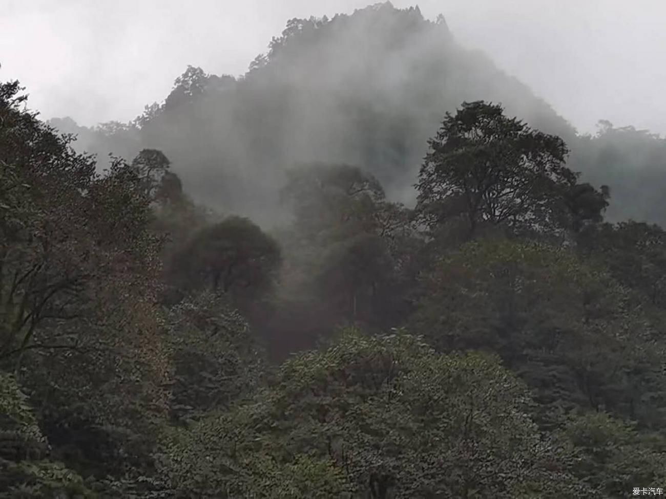
[[[488,225],[548,230],[562,221],[563,199],[575,210],[576,226],[597,220],[605,208],[601,198],[575,209],[573,201],[590,187],[576,188],[563,140],[507,118],[500,105],[464,102],[455,115],[446,114],[428,144],[416,187],[417,209],[431,229],[461,220],[470,236]]]

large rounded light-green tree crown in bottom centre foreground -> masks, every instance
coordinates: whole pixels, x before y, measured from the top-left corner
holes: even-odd
[[[184,496],[267,497],[255,491],[271,477],[286,479],[266,489],[284,497],[309,497],[322,482],[343,497],[563,491],[566,470],[540,468],[557,456],[527,401],[484,355],[438,355],[402,332],[348,331],[287,361],[253,403],[172,434],[167,462]]]

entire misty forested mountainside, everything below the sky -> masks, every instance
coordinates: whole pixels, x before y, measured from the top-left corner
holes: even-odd
[[[0,83],[0,499],[662,494],[665,168],[389,3],[130,123]]]

